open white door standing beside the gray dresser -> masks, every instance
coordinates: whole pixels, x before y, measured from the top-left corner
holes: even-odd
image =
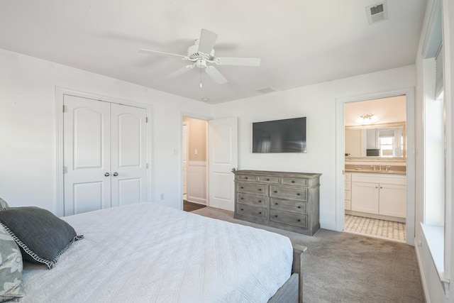
[[[238,118],[209,121],[209,206],[234,211]]]

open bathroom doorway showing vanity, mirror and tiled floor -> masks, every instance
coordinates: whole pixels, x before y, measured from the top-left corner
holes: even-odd
[[[406,96],[344,104],[344,231],[406,243]]]

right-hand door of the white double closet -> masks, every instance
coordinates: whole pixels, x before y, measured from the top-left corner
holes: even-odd
[[[147,111],[111,104],[111,204],[140,203],[147,197]]]

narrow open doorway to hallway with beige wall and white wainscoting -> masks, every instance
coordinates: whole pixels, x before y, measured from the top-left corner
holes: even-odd
[[[182,167],[183,209],[193,211],[206,206],[208,122],[183,116]]]

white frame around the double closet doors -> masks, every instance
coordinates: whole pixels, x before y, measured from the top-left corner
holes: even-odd
[[[62,87],[55,87],[55,201],[57,203],[55,209],[57,211],[57,216],[64,215],[64,174],[63,174],[63,99],[65,94],[72,95],[74,97],[82,97],[87,99],[94,99],[98,101],[106,101],[115,104],[123,104],[128,106],[135,106],[145,109],[147,111],[147,117],[150,118],[147,124],[147,199],[152,201],[154,189],[153,185],[153,165],[154,161],[152,158],[152,146],[153,146],[153,132],[152,132],[152,122],[153,111],[150,104],[144,104],[136,101],[128,101],[124,99],[118,99],[114,97],[107,97],[99,94],[92,94],[87,92],[79,92],[73,89],[65,89]]]

